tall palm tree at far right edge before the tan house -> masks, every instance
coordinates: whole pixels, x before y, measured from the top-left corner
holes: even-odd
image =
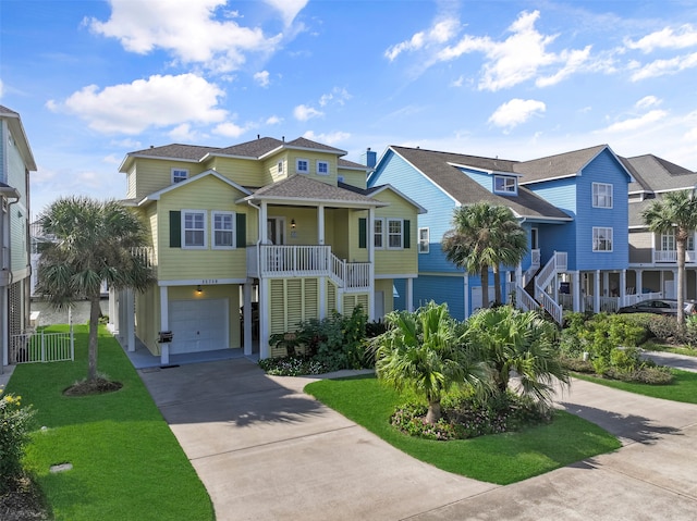
[[[653,233],[675,233],[677,250],[677,323],[685,323],[685,250],[697,230],[697,198],[694,190],[669,191],[641,212]]]

